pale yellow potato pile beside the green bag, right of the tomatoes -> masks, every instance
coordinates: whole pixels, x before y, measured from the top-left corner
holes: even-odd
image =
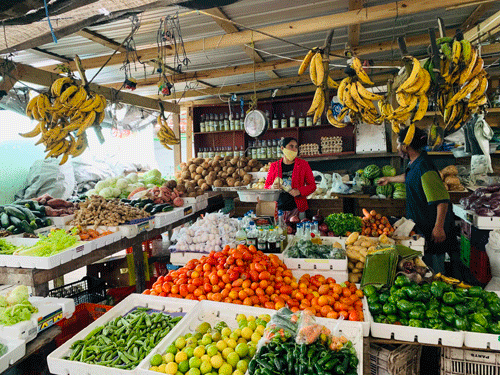
[[[379,237],[360,236],[358,232],[353,232],[345,241],[346,255],[349,269],[348,280],[351,283],[359,283],[365,268],[366,255],[377,250],[379,244],[387,245],[393,243],[385,234]]]

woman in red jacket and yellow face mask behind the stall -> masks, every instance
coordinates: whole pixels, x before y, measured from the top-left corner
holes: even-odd
[[[316,190],[316,182],[309,163],[297,158],[297,140],[286,137],[281,144],[283,158],[272,163],[267,173],[266,189],[279,187],[279,180],[283,180],[283,186],[291,190],[282,192],[278,198],[278,210],[285,212],[285,217],[298,214],[303,219],[306,216],[306,197]],[[287,190],[287,189],[286,189]]]

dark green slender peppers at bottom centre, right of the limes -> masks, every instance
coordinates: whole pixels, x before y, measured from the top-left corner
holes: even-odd
[[[250,375],[355,375],[358,357],[349,341],[339,351],[316,341],[297,344],[293,338],[261,347],[248,364]]]

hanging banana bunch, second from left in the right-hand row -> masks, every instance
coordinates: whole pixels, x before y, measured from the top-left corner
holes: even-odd
[[[352,76],[344,78],[337,90],[337,97],[344,108],[342,108],[337,118],[333,115],[328,116],[328,121],[334,126],[343,127],[345,124],[342,120],[349,114],[354,121],[363,120],[368,124],[382,124],[385,115],[379,114],[373,102],[377,100],[380,102],[384,97],[367,90],[363,86],[363,84],[373,85],[374,83],[366,74],[359,58],[353,58],[351,69]]]

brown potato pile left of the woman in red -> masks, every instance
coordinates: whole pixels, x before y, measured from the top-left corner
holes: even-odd
[[[196,158],[181,164],[176,172],[177,190],[187,197],[202,195],[210,187],[245,186],[252,181],[248,172],[257,172],[262,165],[255,159],[247,157],[213,159]]]

